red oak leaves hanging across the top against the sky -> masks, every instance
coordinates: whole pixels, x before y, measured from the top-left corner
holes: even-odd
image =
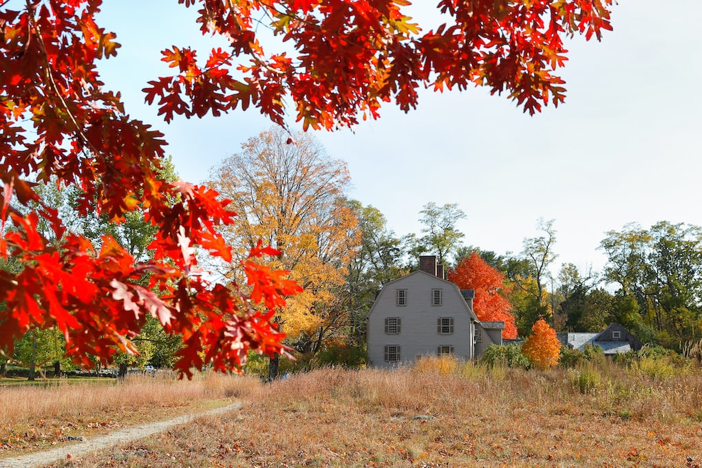
[[[600,39],[611,29],[611,0],[441,0],[449,22],[425,34],[403,13],[404,0],[178,3],[199,8],[202,32],[225,36],[231,49],[211,51],[204,64],[191,48],[163,52],[178,74],[150,81],[144,91],[167,121],[253,104],[282,124],[289,96],[305,129],[330,129],[354,125],[359,114],[377,118],[382,102],[408,111],[419,86],[442,91],[471,83],[505,91],[534,114],[542,103],[564,100],[564,82],[553,73],[567,60],[564,36]],[[256,36],[260,18],[271,18],[273,34],[299,54],[267,55]],[[235,60],[241,56],[249,63]]]

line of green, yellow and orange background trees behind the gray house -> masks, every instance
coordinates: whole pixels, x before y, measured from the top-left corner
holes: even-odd
[[[660,222],[646,230],[627,225],[602,240],[608,257],[603,272],[582,272],[567,264],[554,277],[555,220],[538,220],[541,235],[524,239],[520,253],[498,255],[463,244],[457,223],[465,213],[457,203],[430,201],[418,213],[420,232],[398,236],[378,208],[347,197],[350,175],[344,161],[331,158],[310,134],[293,138],[291,144],[282,128],[249,138],[240,152],[211,169],[207,183],[238,214],[237,222],[223,229],[225,241],[236,246],[234,259],[245,260],[262,240],[279,252],[266,266],[288,271],[289,279],[303,286],[273,318],[286,333],[286,345],[298,354],[363,347],[365,317],[376,291],[417,269],[423,254],[437,255],[450,281],[475,289],[479,319],[505,321],[508,338],[529,335],[541,318],[557,331],[595,332],[617,321],[644,341],[677,350],[702,336],[698,227]],[[171,163],[163,171],[164,178],[177,179]],[[145,220],[144,210],[134,210],[119,225],[104,214],[75,215],[79,191],[49,183],[42,186],[41,197],[63,212],[70,229],[97,245],[109,234],[134,258],[153,255],[156,229]],[[60,246],[62,239],[53,241]],[[1,266],[16,265],[10,257]],[[201,267],[232,288],[247,287],[232,262]],[[151,318],[134,342],[139,354],[116,358],[124,370],[146,363],[171,366],[182,346],[177,334],[164,333]],[[4,359],[30,366],[51,363],[58,369],[65,364],[63,345],[55,330],[30,330]],[[274,376],[277,358],[270,364]]]

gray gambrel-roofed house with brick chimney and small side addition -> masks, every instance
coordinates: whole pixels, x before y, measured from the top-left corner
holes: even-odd
[[[434,255],[420,269],[390,281],[368,314],[369,365],[392,367],[422,356],[452,354],[473,359],[502,344],[503,322],[481,323],[472,309],[473,290],[446,281]]]

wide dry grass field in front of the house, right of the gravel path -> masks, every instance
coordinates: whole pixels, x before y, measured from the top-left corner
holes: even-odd
[[[237,396],[241,410],[57,466],[702,466],[695,368],[424,361],[393,372],[315,370]]]

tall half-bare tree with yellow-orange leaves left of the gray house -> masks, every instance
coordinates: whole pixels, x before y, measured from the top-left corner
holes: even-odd
[[[317,352],[347,312],[345,274],[361,239],[344,198],[349,182],[346,164],[327,156],[312,135],[279,127],[249,138],[211,171],[208,185],[239,213],[225,232],[240,246],[234,255],[244,258],[261,239],[281,252],[270,266],[289,270],[304,288],[276,319],[300,352]]]

